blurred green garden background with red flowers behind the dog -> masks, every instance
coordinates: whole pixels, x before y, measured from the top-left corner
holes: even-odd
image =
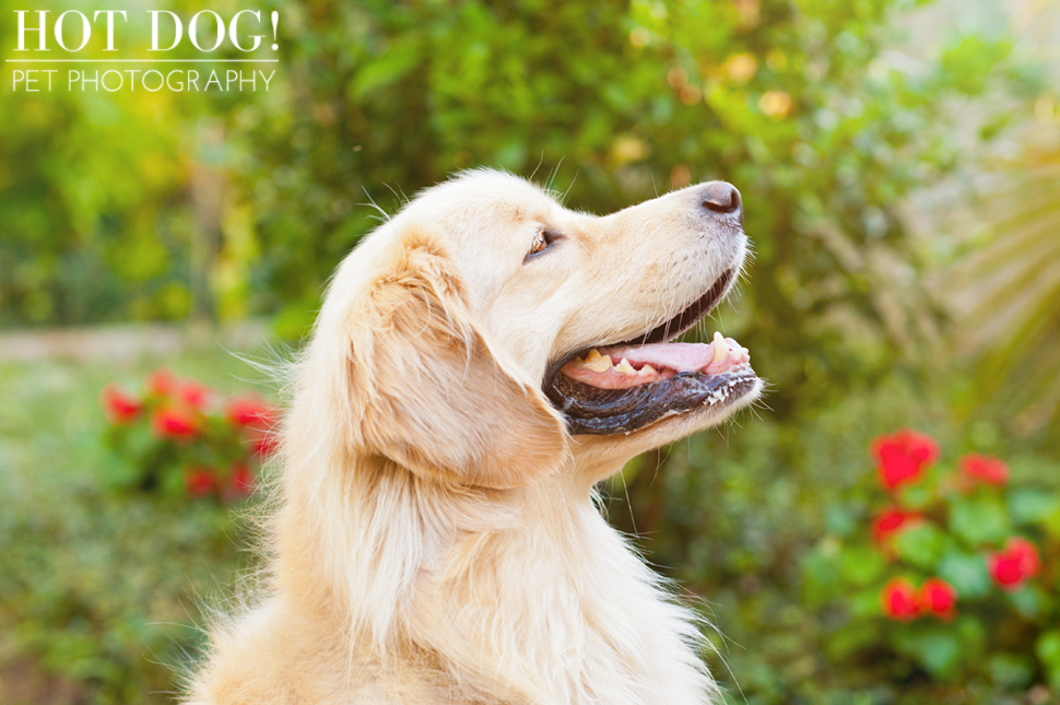
[[[0,37],[15,9],[98,8],[0,0]],[[281,16],[268,93],[16,94],[4,70],[0,702],[169,697],[254,562],[257,500],[189,468],[238,453],[234,399],[280,400],[244,357],[297,349],[376,204],[480,165],[598,213],[743,193],[755,257],[711,326],[765,406],[606,487],[702,598],[731,702],[1060,702],[1056,3],[254,9]],[[196,407],[156,368],[215,391]],[[113,381],[131,396],[101,408]],[[180,393],[209,440],[146,431]],[[897,478],[870,445],[900,427],[940,450],[892,444]],[[1008,472],[976,479],[969,453]],[[1002,589],[1013,537],[1037,563]],[[902,603],[935,577],[955,607]]]

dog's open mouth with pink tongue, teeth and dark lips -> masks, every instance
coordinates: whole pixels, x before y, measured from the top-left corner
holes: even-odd
[[[668,342],[720,302],[729,269],[674,318],[633,340],[585,349],[549,368],[544,391],[574,434],[631,433],[702,407],[720,409],[755,388],[747,350],[715,333],[709,343]]]

